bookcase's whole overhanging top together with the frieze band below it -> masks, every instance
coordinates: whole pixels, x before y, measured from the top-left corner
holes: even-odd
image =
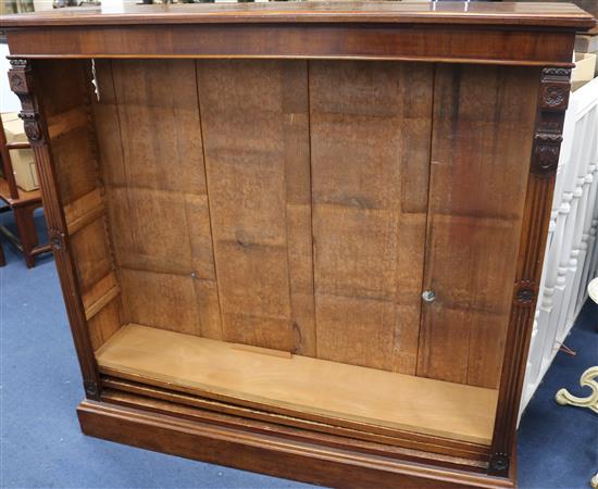
[[[1,17],[13,58],[356,59],[572,66],[569,3],[126,4]]]

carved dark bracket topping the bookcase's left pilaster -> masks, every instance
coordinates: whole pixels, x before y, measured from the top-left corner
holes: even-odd
[[[21,100],[21,113],[25,134],[32,146],[43,145],[43,134],[39,125],[39,113],[34,98],[34,78],[32,66],[27,60],[11,60],[9,70],[11,90]]]

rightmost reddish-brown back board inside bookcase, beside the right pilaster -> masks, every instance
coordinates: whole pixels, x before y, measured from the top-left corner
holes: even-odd
[[[532,153],[536,70],[438,66],[418,374],[498,387]]]

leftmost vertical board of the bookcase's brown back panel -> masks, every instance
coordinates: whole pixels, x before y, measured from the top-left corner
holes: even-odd
[[[96,73],[123,319],[221,339],[195,62],[100,61]]]

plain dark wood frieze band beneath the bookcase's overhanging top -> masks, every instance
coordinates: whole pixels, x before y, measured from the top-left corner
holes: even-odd
[[[12,55],[23,59],[326,59],[571,66],[574,33],[434,25],[207,24],[34,27],[11,30],[8,39]]]

